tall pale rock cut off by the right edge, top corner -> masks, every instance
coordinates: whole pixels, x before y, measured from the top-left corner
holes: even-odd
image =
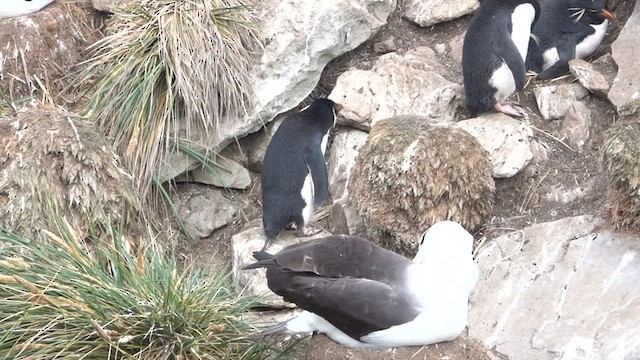
[[[611,54],[618,64],[618,75],[609,90],[609,100],[620,115],[640,112],[640,2],[611,45]]]

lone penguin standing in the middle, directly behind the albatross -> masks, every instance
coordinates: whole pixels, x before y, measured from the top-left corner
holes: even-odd
[[[268,248],[285,228],[313,234],[307,223],[329,192],[324,152],[341,105],[315,99],[286,118],[273,135],[262,165],[262,225]]]

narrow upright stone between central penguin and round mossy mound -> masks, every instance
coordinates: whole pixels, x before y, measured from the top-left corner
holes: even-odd
[[[356,163],[360,147],[367,142],[368,133],[357,129],[343,129],[333,137],[329,150],[327,170],[329,172],[329,193],[338,200],[348,194],[347,185],[351,169]]]

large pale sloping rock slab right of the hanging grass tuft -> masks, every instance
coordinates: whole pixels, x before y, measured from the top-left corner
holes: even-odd
[[[215,148],[256,131],[311,93],[327,63],[355,49],[387,22],[395,0],[260,2],[266,46],[255,74],[256,106],[225,121]]]

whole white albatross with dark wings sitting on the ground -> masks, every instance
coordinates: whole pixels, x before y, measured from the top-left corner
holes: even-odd
[[[304,311],[261,332],[325,333],[351,347],[391,348],[449,341],[467,326],[478,278],[473,237],[441,221],[413,261],[357,236],[328,236],[275,255],[254,253],[244,269],[267,268],[269,289]]]

